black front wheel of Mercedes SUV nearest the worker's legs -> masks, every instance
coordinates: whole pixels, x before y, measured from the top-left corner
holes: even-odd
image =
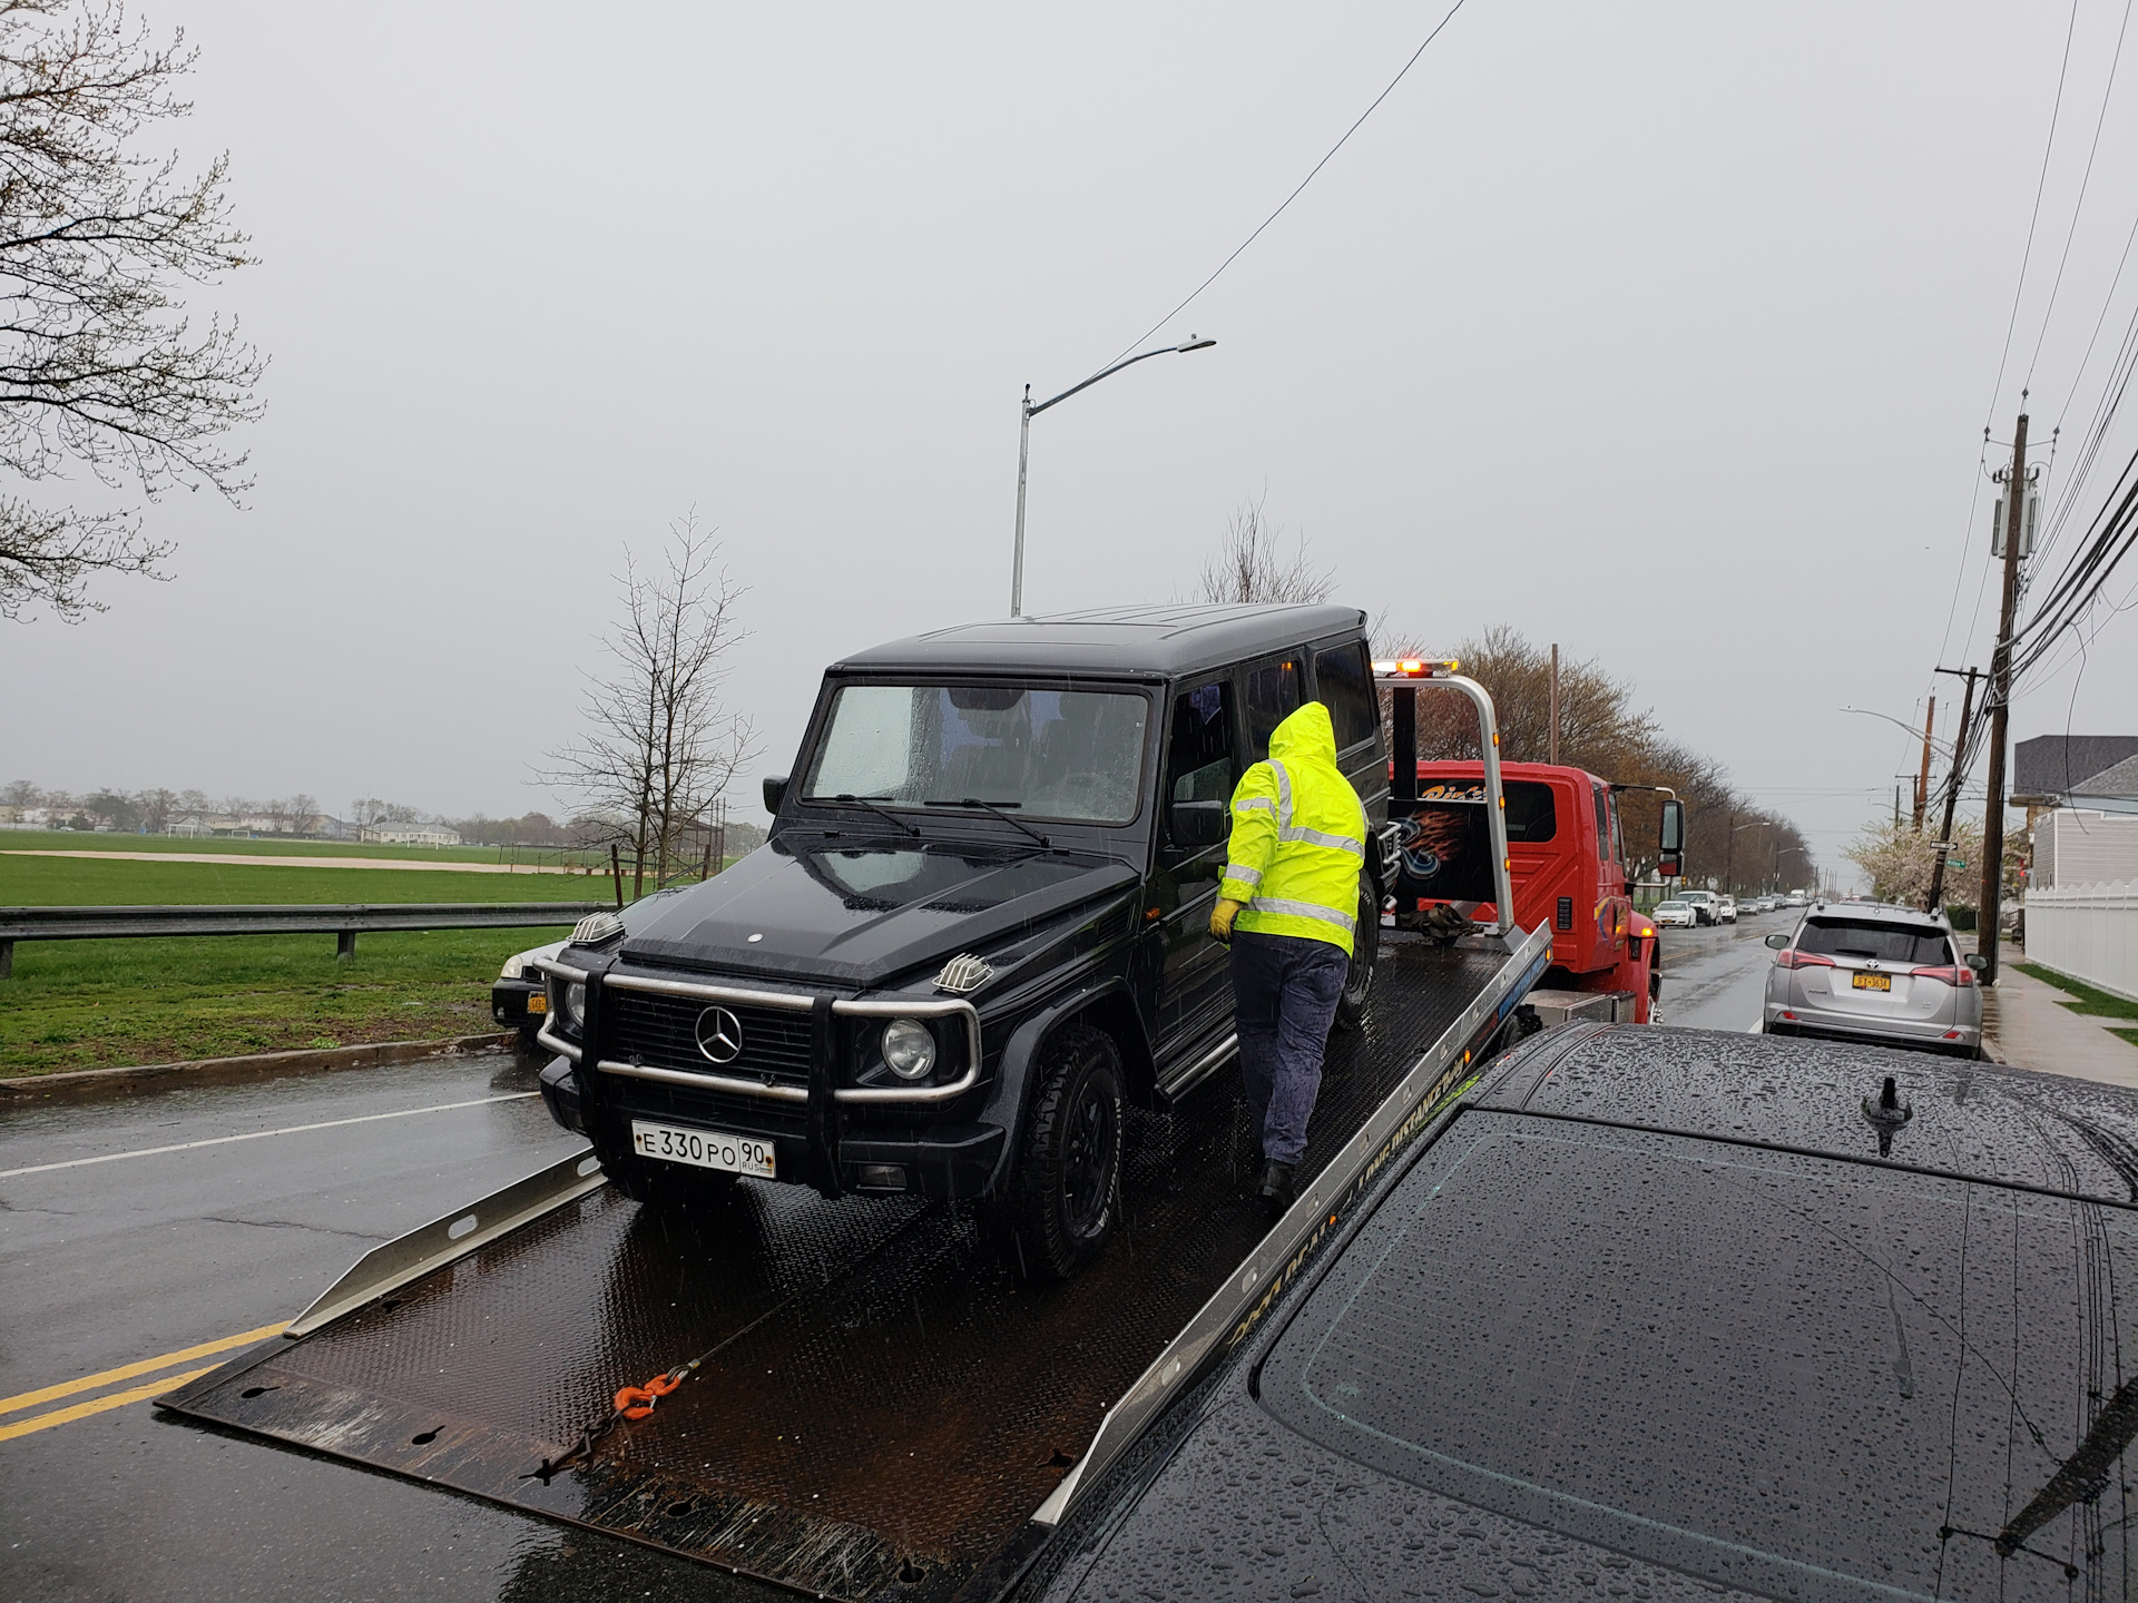
[[[1120,1052],[1073,1026],[1045,1047],[1009,1223],[1026,1274],[1067,1280],[1120,1220]]]

